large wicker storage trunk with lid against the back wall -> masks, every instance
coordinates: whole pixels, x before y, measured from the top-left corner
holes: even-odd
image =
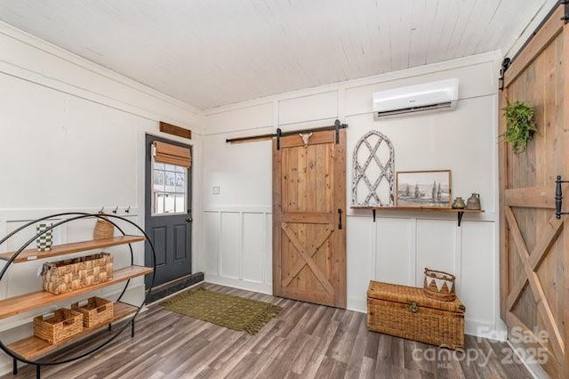
[[[367,290],[367,327],[421,343],[464,348],[464,305],[457,298],[442,302],[422,288],[370,281]]]

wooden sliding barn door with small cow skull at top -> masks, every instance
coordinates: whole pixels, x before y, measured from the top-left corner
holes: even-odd
[[[273,141],[273,293],[346,307],[346,136]]]

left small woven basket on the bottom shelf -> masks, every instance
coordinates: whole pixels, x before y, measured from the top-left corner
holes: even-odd
[[[53,316],[34,318],[34,335],[48,343],[60,343],[66,338],[83,332],[83,315],[75,310],[62,308],[55,310]]]

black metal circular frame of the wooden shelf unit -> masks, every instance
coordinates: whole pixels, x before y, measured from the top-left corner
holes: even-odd
[[[138,316],[138,314],[139,314],[140,310],[142,309],[142,307],[144,306],[144,304],[146,304],[146,302],[148,301],[148,297],[149,297],[150,293],[152,292],[152,287],[154,286],[154,280],[156,278],[156,252],[155,252],[155,249],[154,249],[152,242],[148,238],[148,235],[146,234],[146,232],[144,230],[142,230],[140,228],[140,226],[138,226],[136,223],[132,222],[131,220],[128,220],[125,217],[118,216],[115,214],[89,214],[89,213],[82,213],[82,212],[68,212],[68,213],[61,213],[61,214],[50,214],[48,216],[38,218],[38,219],[33,220],[31,222],[27,222],[26,224],[20,226],[20,228],[13,230],[11,233],[6,235],[4,238],[0,239],[0,246],[2,244],[4,244],[4,242],[7,241],[8,238],[11,238],[12,236],[16,235],[20,231],[25,230],[32,225],[35,225],[37,222],[42,222],[42,221],[53,219],[53,218],[64,218],[64,220],[52,224],[51,227],[37,233],[36,236],[34,236],[34,238],[30,238],[30,239],[28,239],[28,241],[26,241],[24,244],[22,244],[20,246],[20,248],[15,253],[12,254],[12,257],[7,260],[7,262],[4,265],[4,268],[0,271],[0,281],[2,280],[2,278],[4,278],[5,273],[10,268],[12,263],[14,263],[14,261],[16,260],[18,255],[22,251],[24,251],[26,247],[28,247],[29,245],[34,243],[34,241],[36,241],[36,238],[39,238],[40,236],[44,235],[48,231],[53,230],[54,228],[57,228],[60,225],[66,224],[68,222],[74,222],[76,220],[87,219],[87,218],[99,218],[99,219],[106,220],[106,221],[110,222],[111,224],[113,224],[113,226],[115,226],[116,229],[119,230],[123,234],[123,236],[125,236],[126,234],[124,233],[124,230],[121,229],[120,226],[116,224],[116,221],[126,222],[128,224],[131,224],[137,230],[139,230],[140,233],[144,236],[144,238],[146,238],[146,241],[148,241],[148,245],[150,246],[150,249],[152,250],[152,260],[153,260],[152,272],[151,272],[152,280],[150,281],[150,286],[148,286],[148,289],[145,288],[146,294],[145,294],[144,300],[142,301],[140,306],[128,304],[128,305],[132,305],[132,307],[134,307],[134,308],[137,308],[137,310],[134,312],[134,314],[132,314],[131,319],[129,319],[127,322],[124,323],[124,325],[119,327],[116,330],[116,333],[114,335],[110,335],[106,341],[103,341],[102,343],[96,345],[95,347],[93,347],[92,349],[90,349],[84,353],[80,353],[80,354],[73,356],[71,358],[60,359],[60,360],[45,360],[45,359],[42,360],[41,358],[40,359],[27,359],[25,357],[22,357],[20,354],[10,350],[10,348],[8,348],[8,346],[6,346],[2,342],[2,340],[0,339],[0,349],[2,349],[6,354],[8,354],[13,359],[13,370],[12,370],[13,375],[18,374],[18,361],[21,361],[24,363],[28,363],[29,365],[35,365],[36,366],[36,378],[39,379],[40,375],[41,375],[41,367],[42,366],[60,365],[63,363],[72,362],[72,361],[77,360],[77,359],[83,359],[83,358],[91,355],[93,352],[99,351],[104,346],[106,346],[108,343],[111,343],[112,341],[114,341],[116,339],[116,337],[118,337],[118,335],[121,335],[124,332],[124,330],[129,326],[131,327],[131,336],[134,337],[135,319]],[[126,245],[126,244],[124,244],[124,245]],[[128,246],[129,246],[129,250],[130,250],[130,254],[131,254],[131,265],[133,265],[134,254],[132,252],[132,244],[128,243]],[[84,251],[88,251],[88,250],[84,250]],[[70,253],[68,253],[68,254],[70,254]],[[43,258],[38,258],[38,259],[43,259]],[[148,273],[146,275],[150,275],[150,273]],[[126,289],[128,288],[128,285],[130,284],[130,282],[131,282],[130,278],[125,281],[124,288],[123,288],[121,294],[119,294],[116,302],[121,302],[121,299],[123,298],[123,296],[126,292]],[[127,304],[126,302],[124,302],[124,303]],[[116,321],[119,321],[119,320],[116,320]],[[112,330],[111,326],[112,326],[112,322],[109,322],[108,323],[108,331]],[[94,332],[94,330],[93,330],[93,332]],[[88,336],[85,336],[84,338],[88,338]],[[61,348],[63,348],[64,346],[66,346],[66,345],[62,345]],[[53,352],[57,351],[57,350],[59,350],[59,348],[55,348],[53,350]],[[47,355],[49,355],[50,353],[48,353]]]

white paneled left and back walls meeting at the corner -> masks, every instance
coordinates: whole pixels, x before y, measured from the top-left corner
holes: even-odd
[[[0,236],[44,214],[95,212],[100,206],[120,206],[119,214],[132,206],[130,217],[142,225],[144,134],[161,135],[157,121],[162,120],[194,133],[194,270],[205,270],[212,282],[270,293],[270,142],[228,145],[225,139],[272,133],[279,125],[284,130],[331,125],[338,117],[349,124],[349,155],[365,131],[379,129],[394,143],[397,170],[450,168],[454,194],[468,197],[477,191],[485,208],[485,214],[465,216],[461,229],[449,214],[379,213],[373,223],[371,212],[349,210],[349,308],[365,311],[369,279],[419,285],[421,269],[429,265],[458,275],[470,334],[503,331],[498,316],[498,54],[283,93],[212,109],[203,117],[17,29],[0,24],[0,32]],[[373,120],[374,91],[445,77],[461,80],[456,111]],[[212,194],[214,186],[220,187],[219,195]],[[77,222],[57,230],[55,242],[88,238],[91,232],[91,223]],[[125,264],[116,255],[118,264]],[[141,260],[138,246],[136,262]],[[37,289],[38,265],[12,267],[0,284],[0,298]],[[135,287],[140,295],[140,281]],[[28,320],[28,315],[2,320],[0,330],[16,327],[3,342],[29,333]],[[0,357],[0,373],[10,363]]]

